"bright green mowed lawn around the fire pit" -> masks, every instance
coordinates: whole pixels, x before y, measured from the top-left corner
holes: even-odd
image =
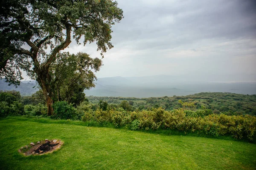
[[[44,123],[17,117],[0,120],[1,169],[256,169],[256,144],[44,120]],[[32,141],[46,138],[61,139],[64,145],[42,156],[23,156],[17,151]]]

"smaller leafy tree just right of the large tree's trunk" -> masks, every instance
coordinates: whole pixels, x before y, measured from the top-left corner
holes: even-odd
[[[64,100],[79,105],[85,99],[84,90],[95,86],[94,72],[101,66],[102,60],[90,58],[86,53],[58,53],[50,67],[54,101]]]

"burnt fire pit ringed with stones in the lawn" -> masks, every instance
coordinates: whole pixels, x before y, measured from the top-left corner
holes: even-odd
[[[30,143],[30,147],[28,145],[21,147],[18,151],[25,156],[29,155],[43,155],[45,153],[51,153],[55,150],[58,150],[63,142],[58,139],[54,140],[44,140],[44,141],[38,141],[37,144],[34,144],[33,142]]]

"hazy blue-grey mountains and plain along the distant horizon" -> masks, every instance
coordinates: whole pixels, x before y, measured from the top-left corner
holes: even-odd
[[[17,90],[21,95],[32,95],[38,88],[35,81],[23,81],[20,86],[8,86],[0,80],[0,90]],[[199,92],[233,92],[238,94],[256,94],[256,83],[212,83],[188,81],[180,76],[156,75],[144,77],[98,78],[96,87],[84,91],[87,96],[113,97],[161,97],[173,95],[191,95]]]

